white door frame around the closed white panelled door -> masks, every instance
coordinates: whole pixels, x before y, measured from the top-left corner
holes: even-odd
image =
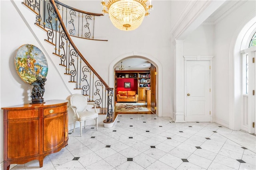
[[[211,111],[211,114],[210,114],[210,122],[212,122],[212,114],[213,114],[213,111],[212,111],[212,92],[213,92],[213,88],[212,88],[212,84],[213,84],[213,80],[212,80],[212,73],[213,73],[213,67],[212,67],[212,60],[214,58],[214,56],[183,56],[184,57],[184,73],[185,73],[185,76],[184,76],[184,99],[185,99],[185,106],[184,106],[184,112],[185,112],[185,122],[187,122],[187,98],[186,98],[186,94],[187,94],[187,61],[210,61],[210,89],[211,89],[211,92],[210,92],[210,111]]]

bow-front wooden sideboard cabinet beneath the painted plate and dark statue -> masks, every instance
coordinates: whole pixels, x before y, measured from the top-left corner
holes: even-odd
[[[68,100],[3,107],[4,170],[58,152],[68,145]]]

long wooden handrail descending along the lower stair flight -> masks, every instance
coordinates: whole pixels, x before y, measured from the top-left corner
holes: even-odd
[[[62,26],[63,31],[65,32],[68,40],[70,41],[70,44],[72,45],[72,47],[74,48],[74,50],[78,53],[78,55],[81,57],[82,61],[84,61],[84,63],[87,64],[87,66],[94,72],[94,74],[100,79],[100,81],[104,84],[104,86],[106,86],[106,88],[110,88],[108,86],[108,84],[101,78],[101,76],[94,70],[94,68],[92,68],[92,66],[88,63],[88,61],[86,61],[86,59],[84,58],[84,56],[80,53],[80,51],[78,50],[78,48],[76,47],[76,45],[74,44],[74,42],[72,41],[70,35],[68,34],[68,31],[66,29],[66,27],[64,26],[64,23],[62,21],[62,18],[60,16],[59,10],[54,2],[54,0],[50,0],[50,2],[52,3],[52,5],[54,6],[54,10],[56,11],[58,20],[60,21],[60,25]]]

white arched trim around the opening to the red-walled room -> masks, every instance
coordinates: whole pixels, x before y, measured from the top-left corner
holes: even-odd
[[[138,52],[132,52],[132,53],[126,53],[123,55],[120,55],[116,57],[109,66],[109,86],[114,87],[115,80],[114,80],[114,71],[115,67],[117,66],[118,63],[123,61],[124,59],[128,58],[133,58],[136,56],[137,58],[142,58],[148,60],[150,63],[152,63],[157,70],[157,75],[156,75],[156,107],[157,107],[157,112],[156,114],[159,117],[162,117],[162,107],[163,107],[163,95],[162,95],[162,64],[156,59],[151,57],[150,55],[144,54],[144,53],[138,53]],[[113,101],[114,102],[114,101]],[[113,104],[114,106],[114,104]]]

